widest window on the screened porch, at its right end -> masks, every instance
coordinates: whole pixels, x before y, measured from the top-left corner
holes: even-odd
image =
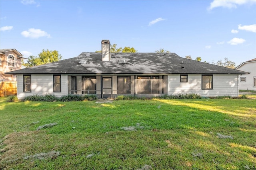
[[[138,76],[136,79],[136,92],[138,94],[159,94],[162,91],[159,76]]]

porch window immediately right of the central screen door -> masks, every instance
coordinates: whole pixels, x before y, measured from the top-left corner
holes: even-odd
[[[130,76],[117,76],[117,94],[131,94]]]

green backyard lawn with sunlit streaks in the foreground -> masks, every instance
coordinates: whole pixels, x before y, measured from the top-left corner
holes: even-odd
[[[256,169],[254,99],[7,100],[0,169]]]

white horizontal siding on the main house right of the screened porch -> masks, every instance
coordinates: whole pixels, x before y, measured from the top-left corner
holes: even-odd
[[[168,95],[197,93],[204,97],[238,96],[238,75],[213,74],[213,89],[202,90],[202,74],[188,74],[188,82],[180,82],[180,74],[168,75]]]

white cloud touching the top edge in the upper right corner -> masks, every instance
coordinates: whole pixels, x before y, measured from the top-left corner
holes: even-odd
[[[213,8],[223,7],[223,8],[237,8],[238,5],[244,4],[256,4],[256,0],[214,0],[211,2],[208,10],[212,10]]]

